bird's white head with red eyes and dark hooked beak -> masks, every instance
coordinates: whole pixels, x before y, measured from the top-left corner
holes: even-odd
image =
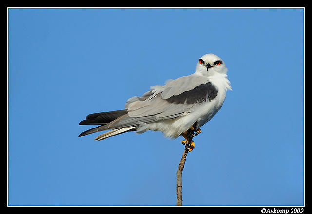
[[[203,76],[212,76],[217,73],[226,74],[227,71],[224,61],[212,53],[200,57],[196,66],[196,73]]]

